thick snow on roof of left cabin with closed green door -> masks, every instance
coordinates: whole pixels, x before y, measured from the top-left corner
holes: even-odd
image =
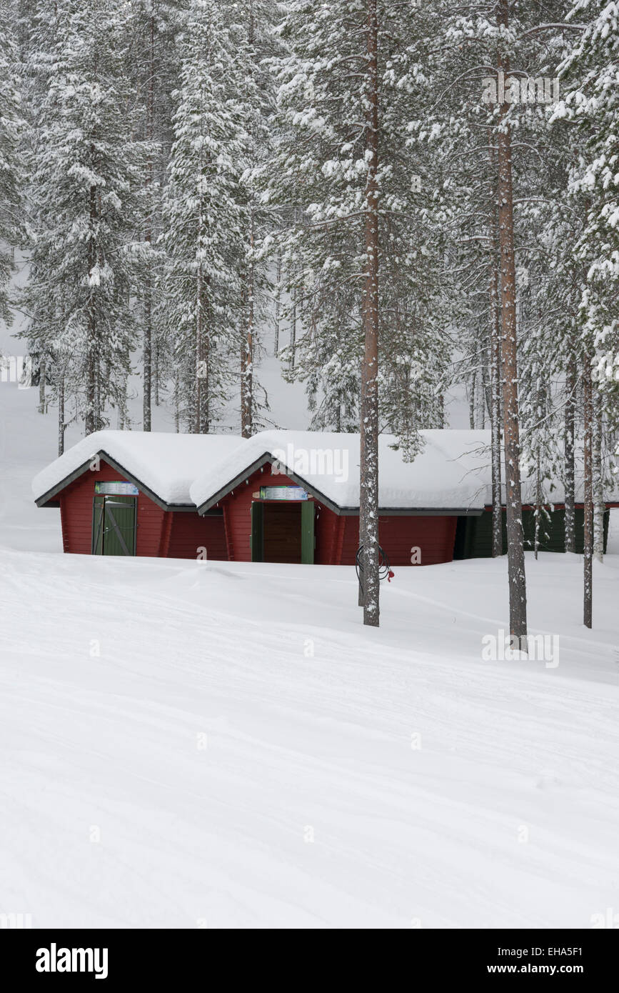
[[[162,503],[191,505],[189,486],[193,480],[242,444],[237,435],[95,431],[39,473],[33,480],[33,493],[37,502],[48,502],[69,477],[87,472],[92,458],[100,453]]]

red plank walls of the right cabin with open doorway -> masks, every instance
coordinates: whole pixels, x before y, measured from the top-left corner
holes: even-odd
[[[286,476],[274,476],[265,466],[254,473],[248,483],[241,483],[233,494],[224,497],[226,540],[230,560],[251,561],[252,494],[260,487],[290,487],[296,484]],[[336,514],[315,503],[315,554],[318,565],[354,565],[359,545],[359,518]],[[392,565],[412,565],[412,548],[421,549],[421,564],[451,562],[456,517],[381,516],[379,540]]]

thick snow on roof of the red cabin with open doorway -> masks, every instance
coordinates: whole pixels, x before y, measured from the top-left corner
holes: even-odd
[[[382,509],[470,510],[487,502],[489,431],[423,431],[425,445],[405,462],[394,435],[379,440]],[[359,435],[316,431],[263,431],[198,476],[189,489],[207,509],[259,465],[276,461],[283,475],[338,509],[359,506]]]

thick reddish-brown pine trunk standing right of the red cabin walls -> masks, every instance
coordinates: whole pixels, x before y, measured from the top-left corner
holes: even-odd
[[[499,0],[498,24],[509,23],[509,0]],[[509,59],[499,51],[498,68],[507,76]],[[510,104],[499,106],[498,213],[501,260],[501,352],[503,357],[503,418],[507,509],[507,557],[510,591],[510,634],[515,647],[527,647],[527,584],[520,488],[520,424],[516,339],[516,264],[514,256],[514,196],[512,139],[506,120]]]

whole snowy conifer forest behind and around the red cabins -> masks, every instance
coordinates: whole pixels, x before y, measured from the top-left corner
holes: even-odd
[[[378,624],[377,436],[405,458],[466,391],[539,533],[584,486],[584,623],[619,424],[619,8],[607,0],[0,0],[0,315],[37,402],[84,434],[269,423],[265,328],[309,427],[362,437]],[[16,251],[28,261],[19,290]],[[271,339],[270,339],[271,341]],[[127,407],[138,372],[141,422]],[[505,479],[501,477],[505,476]]]

